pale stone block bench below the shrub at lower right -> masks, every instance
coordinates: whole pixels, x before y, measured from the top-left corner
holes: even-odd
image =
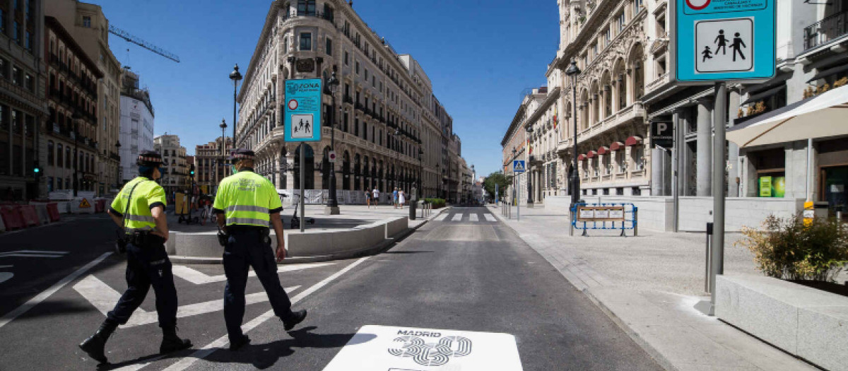
[[[848,371],[848,297],[763,276],[717,276],[716,317],[831,371]]]

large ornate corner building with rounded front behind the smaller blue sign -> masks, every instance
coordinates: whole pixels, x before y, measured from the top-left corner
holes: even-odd
[[[326,81],[333,71],[340,84],[335,97],[325,90],[321,141],[304,144],[300,169],[298,143],[283,140],[284,81]],[[272,2],[237,102],[237,146],[254,149],[257,172],[278,189],[299,188],[301,170],[304,189],[327,189],[336,171],[338,190],[444,196],[449,157],[460,156],[448,150],[459,138],[421,66],[340,0]]]

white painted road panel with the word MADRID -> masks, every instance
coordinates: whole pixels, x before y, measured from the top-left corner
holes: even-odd
[[[521,371],[516,337],[452,329],[365,325],[324,371],[473,369]]]

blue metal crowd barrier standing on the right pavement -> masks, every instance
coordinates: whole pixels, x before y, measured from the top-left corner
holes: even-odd
[[[591,213],[591,217],[589,214]],[[622,217],[611,218],[611,215],[621,213]],[[572,227],[583,230],[621,230],[626,237],[626,230],[633,230],[633,235],[639,235],[639,208],[633,203],[576,203],[571,210]]]

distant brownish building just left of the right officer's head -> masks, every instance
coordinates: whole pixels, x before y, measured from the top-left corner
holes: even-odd
[[[218,137],[215,141],[194,147],[195,181],[204,194],[214,193],[220,180],[230,176],[230,166],[226,166],[226,158],[229,157],[231,148],[232,138],[229,136],[226,141]]]

